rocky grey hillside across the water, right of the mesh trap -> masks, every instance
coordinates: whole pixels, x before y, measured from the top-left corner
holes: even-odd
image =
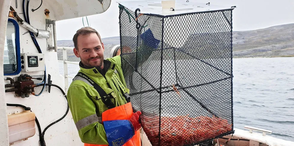
[[[233,56],[294,56],[294,24],[233,32]]]

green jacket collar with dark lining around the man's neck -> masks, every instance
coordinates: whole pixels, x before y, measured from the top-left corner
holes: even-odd
[[[114,70],[115,70],[115,66],[116,64],[113,62],[110,62],[108,60],[103,60],[103,64],[104,64],[104,68],[106,70],[105,76],[107,76],[109,73],[112,75]],[[86,67],[81,61],[79,62],[79,68],[87,73],[88,75],[91,76],[102,76],[101,72],[101,68],[100,67],[93,67],[93,68],[89,68]]]

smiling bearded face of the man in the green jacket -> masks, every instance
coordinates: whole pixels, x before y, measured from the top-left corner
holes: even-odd
[[[77,47],[73,52],[76,57],[79,57],[82,63],[90,68],[100,67],[103,69],[104,60],[104,44],[100,42],[100,39],[96,33],[90,33],[88,35],[79,35],[77,38]]]

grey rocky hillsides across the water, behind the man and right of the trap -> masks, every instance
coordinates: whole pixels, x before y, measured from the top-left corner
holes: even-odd
[[[233,32],[233,57],[290,57],[294,56],[294,24],[278,25],[259,30]],[[103,38],[104,56],[109,57],[110,50],[120,44],[119,36]],[[72,40],[61,40],[58,46],[74,47]],[[69,61],[79,61],[72,50],[67,51]],[[62,60],[62,51],[58,50],[58,60]]]

